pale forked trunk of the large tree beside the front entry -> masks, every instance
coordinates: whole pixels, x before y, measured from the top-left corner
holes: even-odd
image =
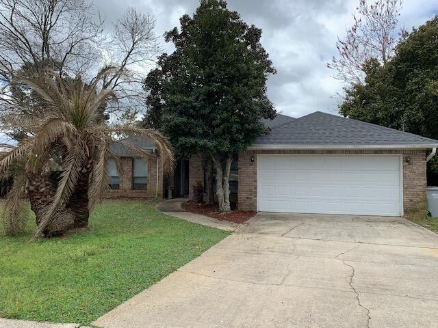
[[[231,154],[227,154],[225,168],[222,168],[222,163],[218,155],[212,155],[211,160],[214,163],[216,171],[216,195],[218,196],[218,204],[220,212],[230,212],[230,169],[231,169]]]

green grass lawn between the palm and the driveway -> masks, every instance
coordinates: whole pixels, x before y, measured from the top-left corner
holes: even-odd
[[[34,242],[29,215],[25,234],[0,236],[0,316],[86,325],[228,235],[154,205],[106,201],[90,231]]]

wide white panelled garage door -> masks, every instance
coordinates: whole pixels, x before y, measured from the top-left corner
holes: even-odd
[[[400,157],[258,155],[257,208],[399,216]]]

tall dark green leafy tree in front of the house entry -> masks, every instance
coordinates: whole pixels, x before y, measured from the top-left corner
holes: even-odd
[[[232,155],[263,134],[261,118],[274,118],[266,79],[274,74],[261,46],[261,29],[247,25],[227,2],[201,0],[193,17],[165,35],[175,51],[159,58],[145,80],[149,114],[179,154],[202,152],[216,172],[220,210],[229,211]],[[222,163],[224,159],[224,164]]]

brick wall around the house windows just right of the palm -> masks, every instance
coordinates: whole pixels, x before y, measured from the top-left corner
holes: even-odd
[[[120,165],[123,172],[120,173],[120,189],[113,189],[107,191],[107,197],[163,197],[163,165],[158,156],[158,170],[157,158],[149,159],[148,161],[148,185],[146,190],[132,189],[132,158],[121,157]],[[158,171],[158,193],[157,193],[157,171]]]

